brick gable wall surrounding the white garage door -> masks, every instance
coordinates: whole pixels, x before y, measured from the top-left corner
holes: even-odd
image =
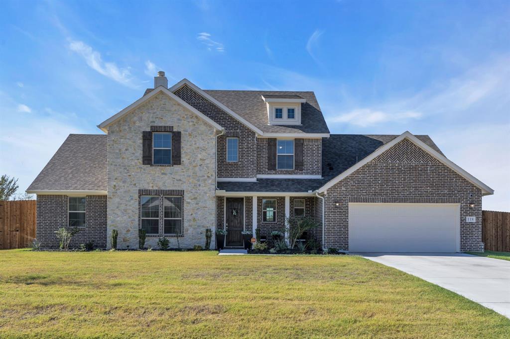
[[[325,247],[349,249],[349,202],[460,204],[461,251],[483,251],[481,190],[410,140],[402,140],[327,190]],[[475,216],[476,222],[467,223],[466,216]]]

